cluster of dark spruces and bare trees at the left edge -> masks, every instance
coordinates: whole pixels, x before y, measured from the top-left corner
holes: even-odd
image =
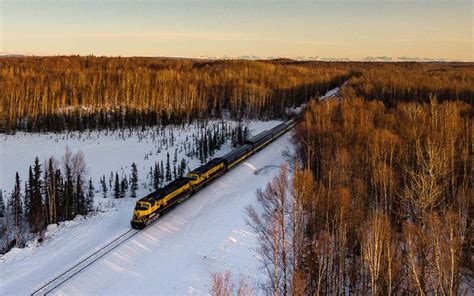
[[[42,236],[49,224],[87,215],[94,209],[92,179],[85,182],[85,160],[81,152],[66,149],[63,169],[50,158],[41,164],[36,158],[22,184],[18,173],[11,195],[0,196],[0,252],[24,247],[29,239]]]

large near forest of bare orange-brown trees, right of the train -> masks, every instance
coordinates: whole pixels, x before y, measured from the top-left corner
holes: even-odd
[[[297,165],[248,209],[276,295],[462,295],[472,274],[473,126],[463,102],[311,102]],[[300,163],[301,165],[298,165]],[[300,168],[302,166],[302,168]]]

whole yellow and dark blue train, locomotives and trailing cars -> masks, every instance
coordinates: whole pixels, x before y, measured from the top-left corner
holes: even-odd
[[[224,156],[214,158],[208,163],[190,171],[186,177],[180,177],[163,188],[140,198],[136,202],[133,218],[130,221],[132,228],[145,228],[164,212],[183,202],[244,159],[267,146],[295,124],[296,119],[292,118],[270,130],[265,130],[249,138],[243,145],[233,149]]]

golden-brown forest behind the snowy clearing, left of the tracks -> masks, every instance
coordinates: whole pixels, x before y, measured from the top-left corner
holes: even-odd
[[[163,58],[0,59],[0,131],[282,116],[347,80],[343,63]]]

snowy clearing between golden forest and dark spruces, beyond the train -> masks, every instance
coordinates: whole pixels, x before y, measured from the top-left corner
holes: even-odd
[[[211,121],[209,125],[212,123],[218,124],[219,121]],[[257,134],[272,128],[278,123],[280,121],[250,121],[248,126],[250,133]],[[228,122],[228,124],[235,126],[236,122]],[[129,136],[128,130],[94,131],[84,132],[83,134],[78,132],[69,134],[18,132],[15,135],[0,135],[0,190],[3,190],[4,197],[8,196],[13,189],[17,171],[20,174],[20,179],[25,181],[28,176],[28,168],[33,165],[36,156],[39,157],[40,163],[44,163],[51,156],[60,161],[66,146],[69,146],[74,153],[78,150],[84,153],[88,174],[83,179],[88,180],[89,177],[92,177],[96,189],[100,188],[100,177],[105,175],[106,180],[108,180],[111,171],[114,174],[116,171],[119,174],[121,171],[130,174],[132,162],[137,165],[139,182],[145,182],[150,166],[155,161],[166,161],[167,152],[169,152],[172,159],[175,148],[186,142],[186,136],[188,136],[188,140],[191,139],[192,134],[197,133],[199,129],[195,125],[166,127],[165,133],[169,134],[173,130],[176,142],[174,146],[161,149],[161,151],[159,151],[157,142],[163,137],[161,135],[156,136],[154,134],[155,130],[156,128],[150,127],[141,132],[142,135],[148,135],[145,138],[140,138],[136,131]],[[122,134],[123,132],[124,134]],[[214,157],[223,155],[230,149],[230,143],[227,143]],[[148,159],[145,159],[145,155],[149,156]],[[183,153],[180,152],[178,162],[183,157]],[[190,160],[190,168],[199,165],[199,160]]]

